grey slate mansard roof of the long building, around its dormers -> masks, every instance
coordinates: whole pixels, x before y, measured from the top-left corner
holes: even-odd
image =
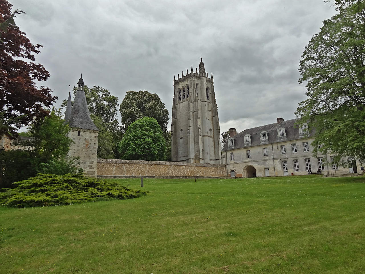
[[[222,151],[229,151],[237,148],[249,148],[257,145],[272,144],[284,141],[298,140],[301,138],[306,138],[313,136],[314,132],[311,131],[310,134],[299,134],[299,126],[295,126],[295,123],[299,119],[291,119],[288,121],[282,121],[281,123],[272,123],[269,125],[258,126],[257,128],[251,128],[243,130],[242,132],[233,136],[234,146],[228,148],[228,141],[224,144]],[[277,130],[280,128],[285,128],[286,138],[278,138]],[[261,140],[261,132],[266,131],[268,133],[268,140]],[[245,145],[245,135],[250,134],[251,144]]]

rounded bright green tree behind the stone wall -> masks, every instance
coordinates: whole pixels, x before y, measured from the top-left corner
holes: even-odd
[[[166,141],[155,118],[132,122],[118,146],[122,159],[164,161]]]

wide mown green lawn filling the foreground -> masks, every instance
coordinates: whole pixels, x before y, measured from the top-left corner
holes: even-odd
[[[130,200],[0,207],[0,273],[365,271],[365,177],[144,185]]]

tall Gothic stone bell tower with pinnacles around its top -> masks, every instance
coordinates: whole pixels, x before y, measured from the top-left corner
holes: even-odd
[[[220,164],[220,131],[213,74],[197,69],[174,76],[171,125],[172,161]]]

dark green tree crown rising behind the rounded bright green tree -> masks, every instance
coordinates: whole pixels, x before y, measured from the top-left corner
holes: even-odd
[[[167,124],[169,121],[169,111],[157,94],[151,94],[145,90],[138,92],[127,91],[123,102],[120,104],[119,111],[122,115],[122,123],[126,130],[137,119],[153,117],[157,120],[158,125],[160,125],[165,139],[168,138]]]

